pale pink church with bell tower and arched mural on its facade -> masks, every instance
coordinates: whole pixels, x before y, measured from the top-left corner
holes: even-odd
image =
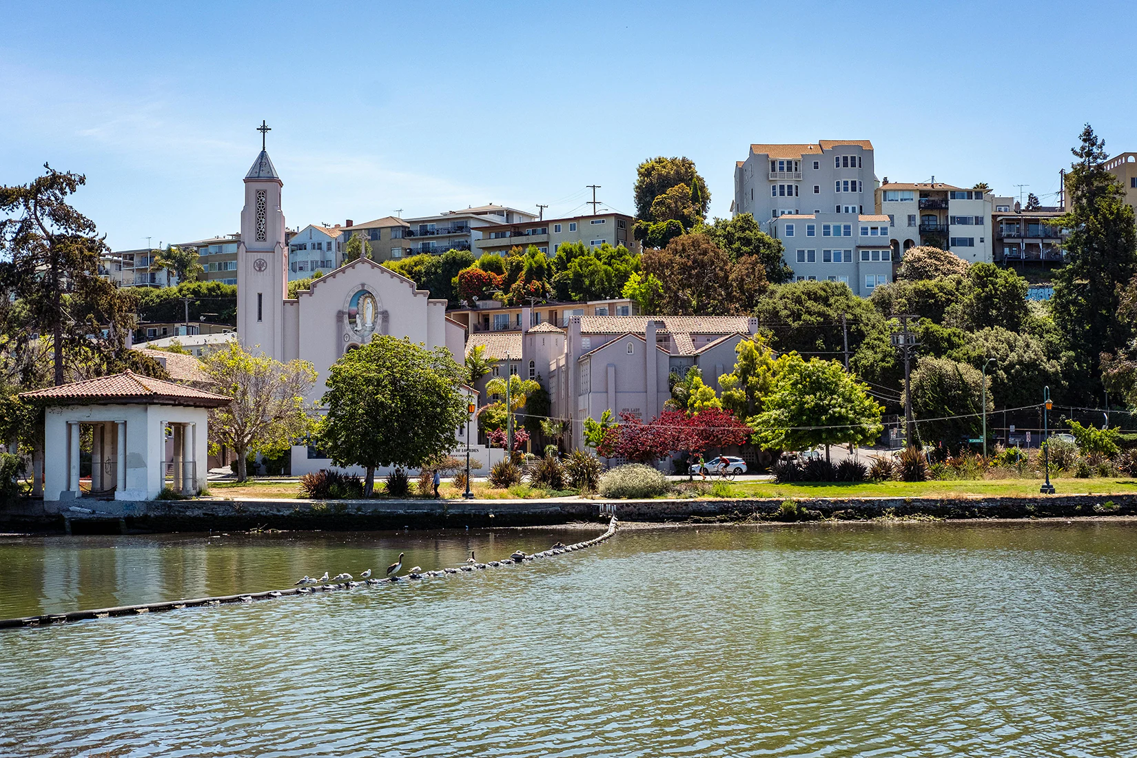
[[[310,363],[319,377],[308,400],[317,405],[332,364],[374,334],[409,338],[429,349],[447,348],[463,363],[465,328],[447,318],[446,300],[432,299],[410,280],[368,258],[325,274],[290,300],[282,188],[262,142],[260,155],[244,176],[238,247],[236,331],[247,350],[281,363],[297,358]],[[456,445],[465,449],[466,435],[474,428],[471,424],[459,430]],[[488,465],[488,451],[479,452]],[[313,447],[293,445],[292,474],[330,468],[331,460],[322,456]]]

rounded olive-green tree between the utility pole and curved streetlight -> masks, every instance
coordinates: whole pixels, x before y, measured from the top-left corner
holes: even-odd
[[[982,383],[978,368],[951,358],[920,359],[912,372],[912,414],[924,442],[943,442],[955,451],[982,431]],[[987,413],[995,409],[987,378]],[[927,419],[927,420],[921,420]]]

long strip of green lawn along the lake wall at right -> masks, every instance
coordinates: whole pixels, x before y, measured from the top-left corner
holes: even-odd
[[[1121,494],[1137,492],[1137,480],[1052,478],[1057,494]],[[965,498],[968,495],[1037,495],[1043,480],[953,480],[946,482],[864,482],[861,484],[774,484],[739,482],[704,497],[730,498]]]

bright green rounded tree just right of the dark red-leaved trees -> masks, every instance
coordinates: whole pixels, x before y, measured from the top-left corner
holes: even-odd
[[[754,422],[755,436],[766,449],[804,450],[831,444],[869,444],[883,431],[883,409],[835,360],[791,356],[778,375],[765,410]]]

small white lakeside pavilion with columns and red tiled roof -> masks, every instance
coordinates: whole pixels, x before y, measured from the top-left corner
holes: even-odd
[[[44,500],[81,497],[152,500],[166,486],[197,494],[206,486],[209,408],[232,398],[132,372],[19,395],[44,406]],[[83,426],[93,434],[91,488],[80,489]],[[166,430],[173,455],[166,459]]]

